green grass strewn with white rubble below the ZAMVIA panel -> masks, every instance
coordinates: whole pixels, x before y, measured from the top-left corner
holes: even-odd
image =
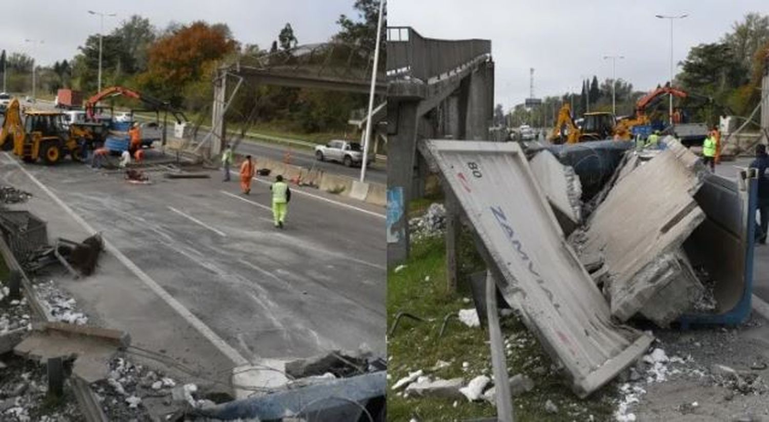
[[[461,241],[466,243],[468,239]],[[470,248],[463,246],[466,247],[464,250]],[[388,420],[466,420],[495,415],[495,408],[485,401],[469,402],[464,397],[457,400],[404,397],[391,390],[398,379],[418,369],[433,378],[463,377],[465,384],[480,374],[491,377],[485,328],[466,327],[454,319],[443,337],[438,337],[446,314],[473,306],[466,299],[470,297],[467,283],[460,281],[458,291],[454,292],[448,290],[445,280],[442,237],[414,242],[405,267],[397,273],[394,269],[388,273],[388,332],[399,311],[408,311],[428,320],[418,322],[404,318],[397,331],[388,336]],[[567,378],[554,367],[518,317],[504,317],[501,325],[508,344],[508,374],[526,374],[534,380],[535,386],[534,390],[514,397],[515,420],[591,420],[591,415],[592,420],[612,419],[614,394],[611,392],[616,388],[605,387],[588,399],[580,400],[571,393]],[[450,365],[431,370],[439,360]],[[463,368],[464,362],[468,367]],[[558,407],[557,413],[545,410],[547,400]]]

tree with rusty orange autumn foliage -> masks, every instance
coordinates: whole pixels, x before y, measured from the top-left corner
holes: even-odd
[[[194,22],[158,38],[148,51],[148,66],[138,84],[151,95],[181,105],[185,89],[211,80],[215,62],[236,52],[227,25]]]

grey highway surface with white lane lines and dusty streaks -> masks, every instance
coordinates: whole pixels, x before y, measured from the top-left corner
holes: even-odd
[[[382,208],[292,188],[278,230],[267,184],[243,195],[215,171],[195,180],[148,172],[152,184],[129,184],[118,172],[2,153],[0,174],[34,195],[17,208],[47,221],[49,238],[102,233],[96,274],[56,279],[91,321],[128,331],[139,347],[219,375],[336,349],[384,357]]]

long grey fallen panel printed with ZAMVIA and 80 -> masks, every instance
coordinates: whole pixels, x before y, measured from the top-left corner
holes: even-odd
[[[644,354],[652,338],[611,320],[517,144],[427,141],[427,147],[505,300],[564,365],[575,394],[591,394]]]

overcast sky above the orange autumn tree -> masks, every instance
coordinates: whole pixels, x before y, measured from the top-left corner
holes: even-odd
[[[226,23],[239,42],[269,48],[278,32],[291,23],[299,44],[324,42],[338,32],[342,13],[358,18],[354,0],[22,0],[2,2],[0,48],[34,55],[38,63],[70,59],[90,34],[98,34],[98,16],[88,10],[116,13],[104,18],[104,32],[111,32],[131,15],[149,18],[158,28],[168,22],[204,20]],[[25,39],[43,40],[34,45]]]

